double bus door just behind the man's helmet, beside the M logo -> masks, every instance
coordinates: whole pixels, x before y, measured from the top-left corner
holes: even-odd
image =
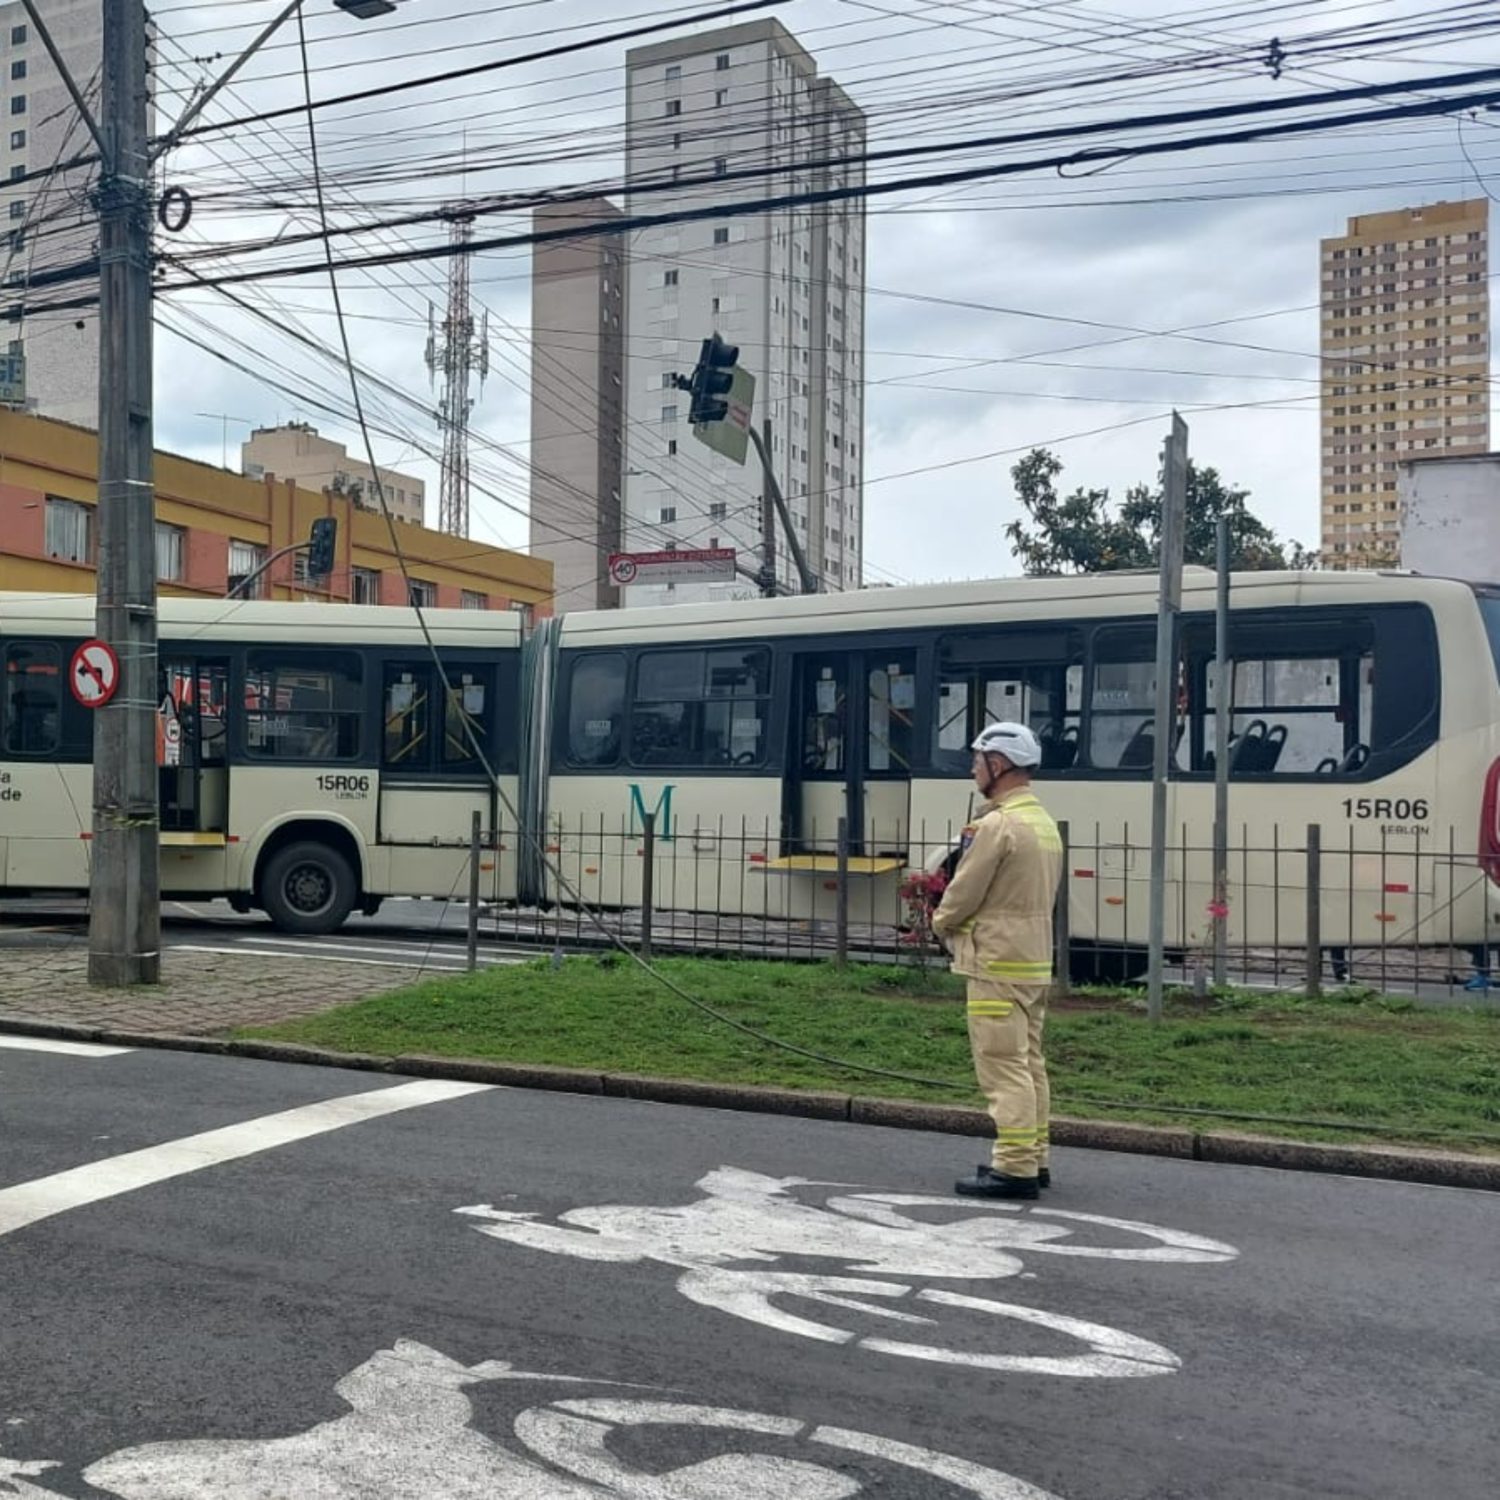
[[[858,855],[903,855],[916,744],[910,648],[798,657],[788,765],[792,852],[837,848],[838,819]]]

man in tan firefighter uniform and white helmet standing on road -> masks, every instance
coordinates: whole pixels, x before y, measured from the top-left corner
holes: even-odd
[[[969,981],[974,1071],[990,1101],[994,1154],[954,1184],[964,1197],[1035,1198],[1050,1185],[1050,1095],[1041,1029],[1052,984],[1052,922],[1062,838],[1030,789],[1041,746],[1024,724],[990,724],[974,741],[984,812],[933,914],[933,932]]]

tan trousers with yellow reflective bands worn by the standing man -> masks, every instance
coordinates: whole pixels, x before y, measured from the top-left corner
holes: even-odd
[[[1041,1054],[1046,1020],[1042,986],[969,981],[969,1046],[994,1120],[993,1167],[1011,1178],[1035,1178],[1047,1166],[1052,1090]]]

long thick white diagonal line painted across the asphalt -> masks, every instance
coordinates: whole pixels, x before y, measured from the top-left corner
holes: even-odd
[[[238,1125],[225,1125],[201,1136],[184,1136],[160,1146],[147,1146],[144,1150],[130,1150],[123,1156],[110,1156],[86,1167],[72,1167],[51,1178],[0,1188],[0,1238],[54,1214],[66,1214],[69,1209],[114,1198],[122,1192],[135,1192],[138,1188],[148,1188],[189,1172],[274,1150],[278,1146],[290,1146],[312,1136],[380,1119],[399,1110],[441,1104],[465,1094],[483,1094],[490,1088],[489,1083],[448,1083],[442,1078],[398,1083],[388,1089],[346,1094],[336,1100],[324,1100],[321,1104],[304,1104],[280,1114],[262,1114]]]

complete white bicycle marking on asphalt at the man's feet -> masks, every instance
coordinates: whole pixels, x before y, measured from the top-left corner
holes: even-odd
[[[792,1190],[832,1184],[768,1178],[738,1167],[710,1172],[698,1186],[704,1197],[693,1203],[570,1209],[556,1224],[538,1222],[536,1214],[486,1203],[456,1212],[478,1220],[474,1227],[480,1233],[528,1250],[578,1260],[675,1266],[681,1272],[678,1292],[690,1302],[800,1338],[981,1370],[1095,1378],[1161,1376],[1178,1370],[1179,1360],[1161,1344],[1101,1323],[1020,1304],[915,1288],[910,1281],[999,1281],[1020,1275],[1022,1257],[1032,1254],[1166,1264],[1214,1264],[1239,1254],[1233,1245],[1182,1230],[1068,1209],[1023,1212],[1016,1203],[956,1204],[952,1198],[930,1194],[840,1191],[816,1206],[794,1197]],[[958,1209],[966,1216],[934,1222],[912,1218],[902,1209],[948,1214]],[[1146,1244],[1080,1244],[1074,1238],[1089,1230]],[[774,1269],[790,1257],[837,1260],[849,1274]],[[874,1276],[908,1280],[876,1281]],[[904,1306],[891,1305],[903,1298],[910,1298]],[[782,1305],[786,1299],[813,1304],[819,1317],[790,1311]],[[926,1306],[918,1310],[916,1304]],[[908,1329],[932,1329],[938,1323],[932,1308],[956,1308],[982,1314],[986,1320],[1004,1318],[1044,1329],[1084,1348],[1065,1354],[946,1348],[906,1338],[856,1335],[824,1320],[825,1310],[840,1310]]]

